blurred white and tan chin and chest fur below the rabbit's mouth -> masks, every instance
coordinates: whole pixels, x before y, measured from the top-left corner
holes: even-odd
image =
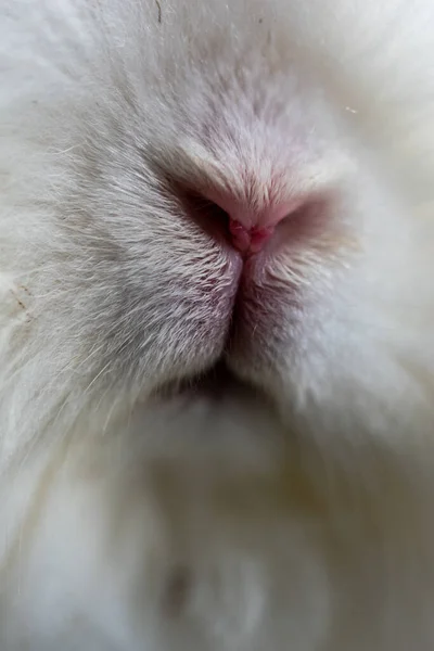
[[[92,419],[1,481],[1,649],[430,648],[429,483],[391,454],[340,472],[241,387]]]

